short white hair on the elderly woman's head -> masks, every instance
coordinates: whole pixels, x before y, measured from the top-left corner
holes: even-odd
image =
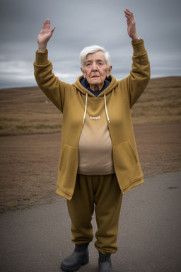
[[[86,63],[86,57],[88,54],[93,54],[95,52],[101,51],[104,53],[105,55],[105,61],[107,63],[107,67],[110,67],[110,54],[101,46],[99,45],[91,45],[88,47],[84,47],[83,50],[81,51],[80,55],[79,55],[79,60],[81,63],[81,68],[83,69],[84,64]]]

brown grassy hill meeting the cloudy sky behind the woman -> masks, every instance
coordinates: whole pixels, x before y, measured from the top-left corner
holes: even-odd
[[[133,123],[181,120],[181,77],[151,79],[132,108]],[[38,87],[0,90],[0,136],[60,132],[62,113]]]

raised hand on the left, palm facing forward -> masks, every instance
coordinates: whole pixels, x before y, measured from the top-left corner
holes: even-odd
[[[45,20],[45,22],[42,24],[42,29],[40,31],[40,34],[37,36],[37,43],[38,43],[38,51],[39,52],[45,52],[47,49],[47,42],[52,37],[52,34],[54,32],[55,28],[52,28],[50,30],[50,21],[49,19]]]

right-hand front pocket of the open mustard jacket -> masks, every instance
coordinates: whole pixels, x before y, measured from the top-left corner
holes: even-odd
[[[115,172],[119,186],[124,189],[130,183],[143,176],[139,159],[129,142],[129,140],[120,143],[112,149]]]

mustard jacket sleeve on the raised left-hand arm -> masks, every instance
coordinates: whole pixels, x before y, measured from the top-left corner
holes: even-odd
[[[71,85],[60,81],[52,72],[52,62],[48,59],[48,51],[36,52],[34,62],[34,74],[37,85],[45,93],[52,103],[63,112],[65,90],[70,89]]]

